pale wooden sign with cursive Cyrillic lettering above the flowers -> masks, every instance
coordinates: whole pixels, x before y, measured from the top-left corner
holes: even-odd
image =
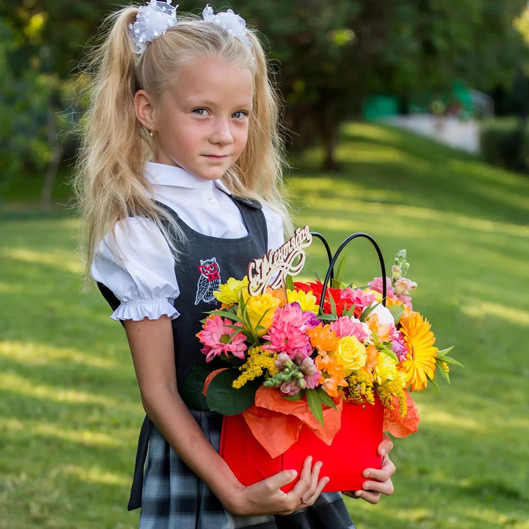
[[[296,228],[294,235],[276,251],[270,250],[266,256],[250,261],[248,265],[250,296],[262,294],[267,286],[271,288],[284,286],[287,276],[296,276],[302,271],[305,265],[304,248],[307,248],[311,242],[312,234],[308,226]],[[296,259],[298,261],[294,264]]]

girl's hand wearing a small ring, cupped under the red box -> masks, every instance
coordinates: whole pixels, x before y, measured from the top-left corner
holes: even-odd
[[[311,468],[312,467],[312,468]],[[295,470],[283,470],[274,476],[243,487],[236,494],[234,505],[224,505],[233,514],[251,516],[259,514],[290,514],[314,504],[323,487],[329,482],[328,477],[319,479],[322,462],[312,464],[309,455],[304,463],[301,475],[290,492],[283,492],[281,487],[296,478]],[[306,501],[306,505],[302,503]],[[222,501],[222,499],[221,499]]]

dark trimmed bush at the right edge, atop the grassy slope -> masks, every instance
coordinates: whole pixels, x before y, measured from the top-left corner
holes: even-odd
[[[510,118],[495,118],[481,124],[479,133],[483,158],[494,165],[529,172],[529,127]]]

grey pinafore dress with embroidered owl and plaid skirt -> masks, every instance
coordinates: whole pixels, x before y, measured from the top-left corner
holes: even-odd
[[[168,206],[159,203],[178,222],[187,245],[175,265],[180,295],[172,320],[177,387],[195,363],[204,360],[195,334],[204,312],[218,307],[213,291],[230,277],[242,278],[248,262],[267,252],[268,235],[261,205],[231,196],[238,206],[248,235],[220,239],[192,230]],[[115,309],[119,300],[104,285],[98,287]],[[122,322],[123,323],[123,322]],[[222,415],[190,409],[204,435],[218,452]],[[171,448],[158,428],[145,416],[138,441],[128,509],[141,507],[139,529],[354,529],[340,492],[324,492],[312,507],[288,516],[234,516],[227,512],[204,481],[200,480]]]

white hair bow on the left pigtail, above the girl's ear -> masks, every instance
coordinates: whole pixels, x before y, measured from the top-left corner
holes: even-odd
[[[151,0],[147,5],[138,8],[136,21],[129,24],[134,53],[143,53],[147,44],[164,35],[176,24],[176,9],[178,5],[170,5],[172,0],[157,2]]]

